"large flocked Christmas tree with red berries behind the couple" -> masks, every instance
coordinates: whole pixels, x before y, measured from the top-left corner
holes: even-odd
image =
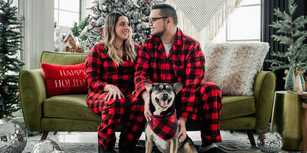
[[[150,37],[148,20],[151,6],[164,2],[165,0],[99,0],[94,2],[95,5],[89,8],[93,13],[88,20],[89,25],[79,36],[82,38],[85,35],[87,39],[81,42],[83,45],[80,47],[90,51],[95,43],[103,40],[104,19],[114,11],[127,14],[131,22],[132,40],[141,46],[144,40]]]

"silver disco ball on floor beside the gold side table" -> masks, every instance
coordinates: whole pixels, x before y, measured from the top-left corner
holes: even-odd
[[[282,136],[274,130],[265,130],[259,134],[257,145],[260,151],[277,153],[282,150],[284,142]]]

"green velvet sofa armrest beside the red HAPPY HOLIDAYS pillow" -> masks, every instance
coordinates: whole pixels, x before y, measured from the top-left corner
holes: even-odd
[[[42,103],[47,98],[42,69],[23,70],[18,76],[20,102],[29,131],[41,131]]]

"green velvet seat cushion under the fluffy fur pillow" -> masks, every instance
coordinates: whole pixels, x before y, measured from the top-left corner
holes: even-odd
[[[254,96],[226,96],[223,95],[220,120],[256,113]]]

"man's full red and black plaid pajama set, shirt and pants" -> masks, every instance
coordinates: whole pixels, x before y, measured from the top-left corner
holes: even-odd
[[[185,87],[176,96],[182,118],[196,119],[200,115],[200,132],[203,142],[221,142],[220,112],[222,95],[213,82],[205,82],[205,59],[197,40],[177,28],[177,36],[168,56],[160,38],[145,40],[138,52],[134,84],[138,96],[145,88],[143,82],[168,83],[178,81]],[[180,106],[181,104],[181,106]]]

